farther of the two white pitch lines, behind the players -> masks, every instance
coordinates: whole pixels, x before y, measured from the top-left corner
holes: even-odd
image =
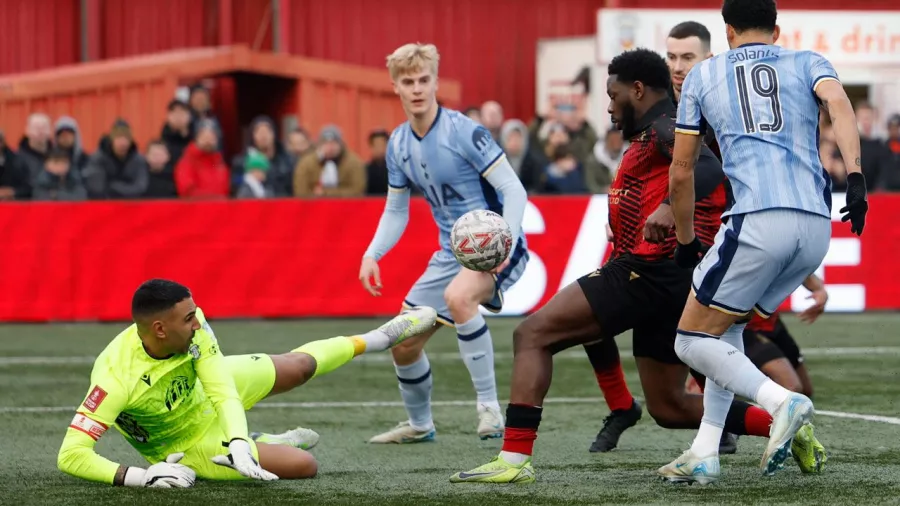
[[[630,355],[630,349],[619,350],[623,355]],[[807,357],[817,356],[862,356],[862,355],[884,355],[900,353],[900,346],[869,346],[869,347],[853,347],[843,346],[834,348],[803,348],[802,353]],[[511,352],[498,352],[494,354],[495,360],[512,360]],[[586,358],[584,351],[574,349],[564,351],[557,354],[554,358],[561,360],[584,359]],[[0,357],[0,367],[16,366],[16,365],[90,365],[94,363],[96,357],[91,356],[23,356],[23,357]],[[436,352],[429,353],[428,359],[432,362],[446,362],[459,360],[459,353],[456,352]],[[387,363],[393,359],[390,354],[372,354],[363,355],[354,359],[354,362],[376,362]]]

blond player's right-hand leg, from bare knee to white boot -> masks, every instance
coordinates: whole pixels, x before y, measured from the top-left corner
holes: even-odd
[[[459,354],[475,387],[477,431],[482,440],[503,437],[503,415],[494,376],[494,342],[479,311],[481,303],[491,300],[495,290],[493,276],[461,269],[444,291],[450,316],[456,322]]]

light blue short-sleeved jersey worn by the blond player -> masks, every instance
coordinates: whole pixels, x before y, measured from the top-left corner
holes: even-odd
[[[504,160],[490,132],[464,114],[443,107],[424,137],[409,122],[394,129],[388,142],[388,184],[393,191],[415,185],[431,206],[440,230],[441,250],[450,253],[450,230],[459,217],[475,209],[503,215],[503,198],[487,177]],[[511,261],[525,255],[525,235],[519,224]]]

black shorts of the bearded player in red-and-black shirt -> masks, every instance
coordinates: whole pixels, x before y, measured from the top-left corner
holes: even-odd
[[[675,333],[691,291],[691,269],[672,260],[649,262],[624,255],[579,278],[578,285],[603,339],[633,330],[635,357],[682,363],[675,353]]]

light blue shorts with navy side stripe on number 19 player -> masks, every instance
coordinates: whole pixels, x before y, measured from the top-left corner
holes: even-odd
[[[697,300],[720,311],[769,317],[825,259],[831,220],[794,209],[731,216],[694,270]]]

